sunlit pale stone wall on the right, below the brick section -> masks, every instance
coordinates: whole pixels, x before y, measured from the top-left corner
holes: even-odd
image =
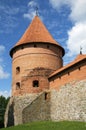
[[[51,91],[51,119],[86,121],[86,80]]]

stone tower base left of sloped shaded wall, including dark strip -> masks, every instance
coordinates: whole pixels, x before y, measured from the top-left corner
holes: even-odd
[[[5,127],[22,124],[22,111],[33,100],[39,96],[38,94],[28,94],[23,96],[11,97],[5,112]]]

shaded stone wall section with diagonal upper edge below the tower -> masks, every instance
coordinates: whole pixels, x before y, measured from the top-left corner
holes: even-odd
[[[22,122],[50,120],[50,93],[42,93],[22,112]]]

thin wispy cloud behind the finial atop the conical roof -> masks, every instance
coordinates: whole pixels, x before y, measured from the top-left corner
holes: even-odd
[[[23,17],[32,20],[33,17],[36,15],[36,7],[38,7],[38,3],[36,3],[35,1],[30,1],[28,3],[28,12],[24,13]]]

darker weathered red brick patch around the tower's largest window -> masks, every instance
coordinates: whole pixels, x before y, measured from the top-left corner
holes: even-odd
[[[39,93],[49,89],[48,74],[50,70],[36,68],[29,72],[27,76],[21,78],[20,89],[14,89],[13,95],[23,95],[27,93]],[[38,87],[33,86],[33,81],[37,80]]]

